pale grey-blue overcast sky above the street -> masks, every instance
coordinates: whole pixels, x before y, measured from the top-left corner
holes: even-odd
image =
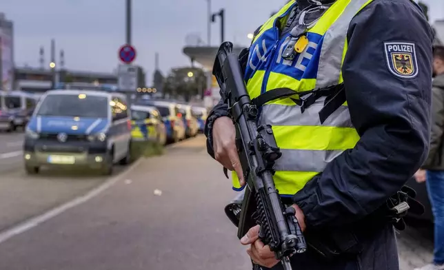
[[[432,21],[444,17],[443,0],[424,1],[430,6]],[[151,74],[154,54],[159,52],[164,73],[171,67],[189,65],[182,53],[185,37],[197,34],[207,41],[207,0],[132,3],[132,43],[138,52],[135,63]],[[247,45],[247,34],[283,3],[285,0],[212,0],[212,10],[226,10],[225,39]],[[57,50],[65,50],[68,69],[111,72],[119,63],[117,50],[125,41],[125,0],[1,0],[0,12],[14,21],[16,65],[39,66],[42,45],[48,63],[52,38]],[[219,41],[217,22],[212,24],[212,45]]]

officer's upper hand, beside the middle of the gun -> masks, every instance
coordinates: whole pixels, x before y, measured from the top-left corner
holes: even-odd
[[[236,172],[241,186],[245,185],[239,154],[236,149],[236,128],[230,117],[219,117],[213,124],[213,149],[223,167]]]

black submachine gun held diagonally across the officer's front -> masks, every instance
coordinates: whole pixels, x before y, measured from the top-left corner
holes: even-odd
[[[221,87],[236,126],[236,146],[243,175],[247,180],[243,200],[225,207],[225,213],[238,227],[242,238],[260,225],[259,238],[269,245],[285,270],[291,270],[290,256],[307,249],[293,207],[285,207],[273,181],[274,163],[282,156],[270,125],[256,125],[259,110],[248,96],[238,56],[233,44],[222,43],[214,62],[213,75]]]

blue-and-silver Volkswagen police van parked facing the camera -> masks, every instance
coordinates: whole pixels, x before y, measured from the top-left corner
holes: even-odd
[[[131,121],[125,95],[90,90],[51,90],[26,127],[23,157],[28,174],[41,166],[69,165],[112,174],[130,163]]]

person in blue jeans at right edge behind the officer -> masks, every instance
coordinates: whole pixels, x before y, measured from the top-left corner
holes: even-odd
[[[444,46],[435,46],[433,54],[430,152],[415,177],[418,183],[427,183],[430,203],[432,203],[435,219],[434,261],[432,264],[415,270],[444,270]]]

